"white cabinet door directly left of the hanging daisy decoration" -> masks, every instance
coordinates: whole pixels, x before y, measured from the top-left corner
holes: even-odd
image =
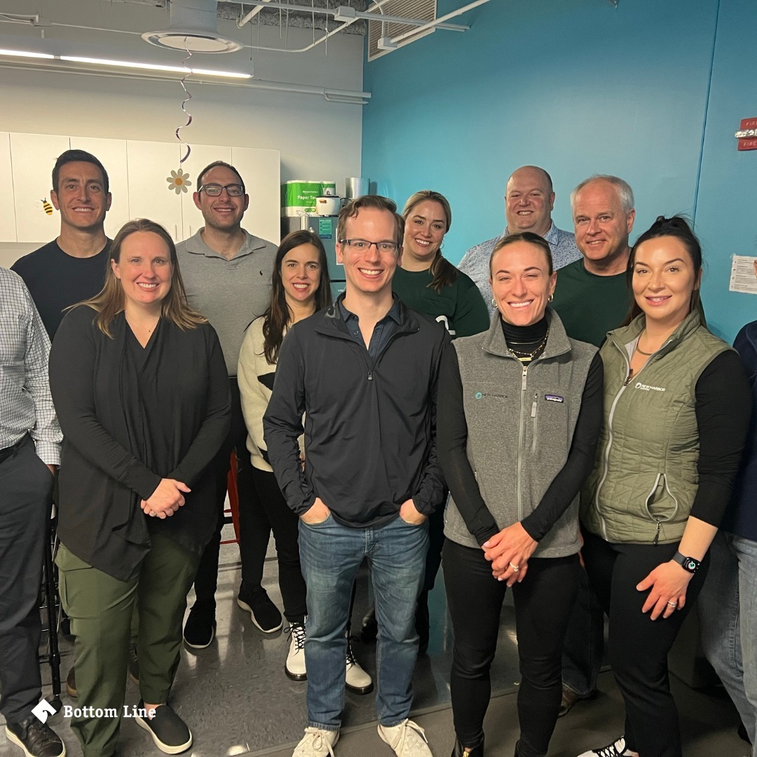
[[[179,145],[170,142],[126,142],[129,167],[129,213],[165,227],[174,241],[184,238],[182,198],[166,181],[179,168]]]

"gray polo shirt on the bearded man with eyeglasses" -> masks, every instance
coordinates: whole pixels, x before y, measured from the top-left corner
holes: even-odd
[[[204,243],[201,232],[176,245],[179,269],[189,307],[216,329],[226,369],[235,376],[245,329],[269,306],[278,247],[245,231],[245,244],[226,260]]]

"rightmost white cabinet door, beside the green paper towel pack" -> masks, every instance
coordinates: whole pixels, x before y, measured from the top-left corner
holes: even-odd
[[[281,154],[278,150],[232,147],[232,164],[250,197],[242,226],[279,244],[281,239]]]

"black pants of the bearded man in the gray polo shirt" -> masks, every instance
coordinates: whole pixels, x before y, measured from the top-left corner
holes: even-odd
[[[252,463],[247,450],[247,426],[241,412],[239,386],[236,376],[229,376],[232,394],[231,429],[218,454],[210,463],[216,472],[216,503],[218,521],[210,541],[205,547],[195,577],[195,594],[198,602],[215,603],[218,582],[218,553],[223,528],[223,503],[226,500],[226,476],[229,473],[229,459],[235,450],[237,459],[237,491],[239,495],[239,554],[241,556],[241,578],[245,588],[260,588],[263,578],[263,562],[266,559],[271,527],[264,516],[252,480]]]

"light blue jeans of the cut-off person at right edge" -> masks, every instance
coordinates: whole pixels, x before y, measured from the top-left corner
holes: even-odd
[[[702,647],[741,715],[757,757],[757,541],[718,531],[699,594]]]

